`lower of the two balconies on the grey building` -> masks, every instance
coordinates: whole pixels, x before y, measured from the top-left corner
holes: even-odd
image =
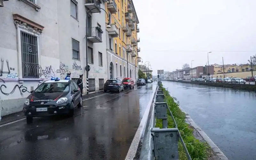
[[[102,42],[103,31],[99,27],[91,27],[87,30],[87,39],[92,43]]]

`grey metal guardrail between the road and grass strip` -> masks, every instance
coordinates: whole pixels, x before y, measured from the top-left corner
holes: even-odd
[[[153,143],[149,143],[150,150],[148,160],[179,160],[178,141],[182,143],[188,160],[191,157],[188,153],[188,149],[180,135],[177,123],[172,115],[161,81],[158,81],[156,95],[154,98],[154,107],[152,109],[153,126],[151,127],[151,138]],[[175,128],[168,128],[168,111],[172,117]],[[156,119],[162,119],[162,128],[156,128]],[[151,154],[151,155],[150,155]]]

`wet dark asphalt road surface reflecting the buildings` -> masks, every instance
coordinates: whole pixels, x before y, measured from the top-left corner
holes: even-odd
[[[156,84],[83,101],[73,118],[0,128],[1,160],[124,160]]]

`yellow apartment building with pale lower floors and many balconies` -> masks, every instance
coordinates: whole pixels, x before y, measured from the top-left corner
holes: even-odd
[[[140,62],[137,58],[140,30],[134,4],[132,0],[109,0],[105,8],[108,12],[106,24],[111,26],[107,29],[108,78],[138,77],[135,65]]]

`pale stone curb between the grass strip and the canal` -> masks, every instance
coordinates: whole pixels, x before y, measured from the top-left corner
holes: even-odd
[[[224,155],[224,153],[219,149],[219,147],[208,137],[208,135],[199,127],[196,125],[196,123],[193,121],[193,119],[189,116],[187,112],[185,112],[181,107],[180,110],[186,114],[186,120],[187,123],[192,126],[197,133],[206,141],[210,147],[212,148],[213,152],[218,156],[220,160],[228,160],[228,158]]]

